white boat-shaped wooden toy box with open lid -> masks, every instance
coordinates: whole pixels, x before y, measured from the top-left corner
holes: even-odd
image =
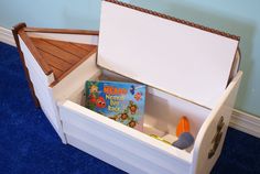
[[[128,173],[210,172],[242,76],[238,36],[116,0],[101,2],[99,33],[25,24],[13,33],[35,104],[64,143]],[[148,85],[143,132],[84,107],[85,81],[101,78]],[[180,116],[189,151],[150,137],[176,140]]]

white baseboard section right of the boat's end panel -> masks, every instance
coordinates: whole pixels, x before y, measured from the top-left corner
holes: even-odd
[[[260,138],[260,118],[234,109],[229,127]]]

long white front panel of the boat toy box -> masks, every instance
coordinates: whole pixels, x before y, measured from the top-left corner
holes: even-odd
[[[59,107],[65,134],[148,173],[187,173],[191,154],[71,101]],[[69,142],[69,141],[68,141]],[[73,144],[75,142],[72,142]],[[104,145],[106,143],[106,145]],[[86,149],[85,152],[88,152]],[[102,156],[98,156],[102,159]],[[120,167],[120,166],[119,166]],[[128,167],[123,167],[128,168]],[[127,171],[131,172],[131,171]],[[136,171],[137,173],[138,171]]]

